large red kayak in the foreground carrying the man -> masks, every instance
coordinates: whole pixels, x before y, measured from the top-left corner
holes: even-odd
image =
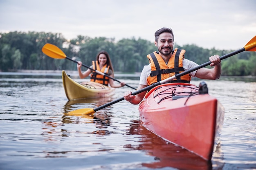
[[[166,83],[154,87],[139,105],[146,129],[211,160],[220,137],[224,108],[208,94],[207,85]]]

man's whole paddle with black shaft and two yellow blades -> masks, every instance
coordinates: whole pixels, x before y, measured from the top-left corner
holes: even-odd
[[[222,57],[220,57],[220,60],[226,59],[226,58],[228,58],[228,57],[231,57],[231,56],[233,56],[233,55],[235,55],[235,54],[238,54],[238,53],[240,53],[240,52],[243,52],[243,51],[256,51],[256,36],[255,36],[253,39],[251,39],[251,40],[245,45],[245,47],[241,48],[240,50],[236,50],[236,51],[234,51],[234,52],[230,52],[230,53],[228,53],[228,54],[226,54],[226,55],[223,55]],[[153,83],[152,85],[149,85],[149,86],[147,86],[147,87],[144,87],[143,89],[137,90],[136,92],[133,92],[132,95],[139,94],[139,93],[144,92],[144,91],[146,91],[146,90],[149,90],[149,89],[151,89],[151,88],[153,88],[153,87],[155,87],[155,86],[157,86],[157,85],[161,85],[161,84],[163,84],[163,83],[167,83],[168,81],[171,81],[171,80],[173,80],[173,79],[175,79],[175,78],[178,78],[178,77],[180,77],[180,76],[184,76],[185,74],[188,74],[188,73],[190,73],[190,72],[193,72],[193,71],[195,71],[195,70],[198,70],[198,69],[203,68],[203,67],[205,67],[205,66],[207,66],[207,65],[210,65],[210,64],[211,64],[211,61],[208,61],[207,63],[198,65],[198,66],[195,67],[195,68],[192,68],[192,69],[190,69],[190,70],[186,70],[186,71],[184,71],[184,72],[182,72],[182,73],[176,74],[175,76],[171,76],[171,77],[169,77],[169,78],[166,78],[165,80],[159,81],[159,82],[157,82],[157,83]],[[105,108],[105,107],[108,107],[108,106],[110,106],[110,105],[113,105],[113,104],[115,104],[115,103],[117,103],[117,102],[120,102],[120,101],[122,101],[122,100],[124,100],[124,97],[119,98],[119,99],[117,99],[117,100],[114,100],[114,101],[112,101],[112,102],[106,103],[106,104],[104,104],[104,105],[102,105],[102,106],[100,106],[100,107],[96,107],[96,108],[94,108],[94,109],[91,109],[91,108],[77,109],[77,110],[74,110],[74,111],[70,111],[69,113],[71,113],[71,114],[93,114],[93,113],[95,113],[96,111],[98,111],[98,110],[100,110],[100,109],[103,109],[103,108]]]

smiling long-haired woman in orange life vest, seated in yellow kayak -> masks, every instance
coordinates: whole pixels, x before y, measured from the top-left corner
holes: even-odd
[[[112,67],[112,63],[111,63],[110,57],[108,55],[108,52],[106,52],[106,51],[101,51],[98,53],[98,55],[96,57],[96,61],[92,61],[92,66],[90,66],[90,68],[92,68],[93,70],[98,70],[100,72],[103,72],[112,78],[108,78],[107,76],[97,74],[92,69],[88,69],[82,73],[82,71],[81,71],[82,62],[81,61],[78,61],[76,66],[77,66],[77,71],[79,73],[80,78],[85,78],[91,74],[91,81],[101,83],[106,86],[108,86],[108,84],[109,84],[111,87],[118,88],[118,87],[123,87],[125,85],[124,82],[121,82],[119,84],[114,83],[114,80],[112,79],[112,78],[114,78],[114,69]]]

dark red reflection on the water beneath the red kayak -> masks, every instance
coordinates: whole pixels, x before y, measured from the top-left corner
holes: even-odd
[[[144,150],[147,155],[154,157],[151,163],[142,163],[148,168],[172,167],[186,170],[211,170],[211,161],[205,161],[201,157],[166,142],[161,137],[148,131],[139,121],[134,121],[130,125],[130,135],[140,135],[141,144],[139,146],[126,145],[124,147],[134,150]]]

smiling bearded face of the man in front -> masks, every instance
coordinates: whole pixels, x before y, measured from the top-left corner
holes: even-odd
[[[159,53],[168,56],[173,51],[173,35],[170,33],[160,34],[155,41],[155,46],[157,46]]]

